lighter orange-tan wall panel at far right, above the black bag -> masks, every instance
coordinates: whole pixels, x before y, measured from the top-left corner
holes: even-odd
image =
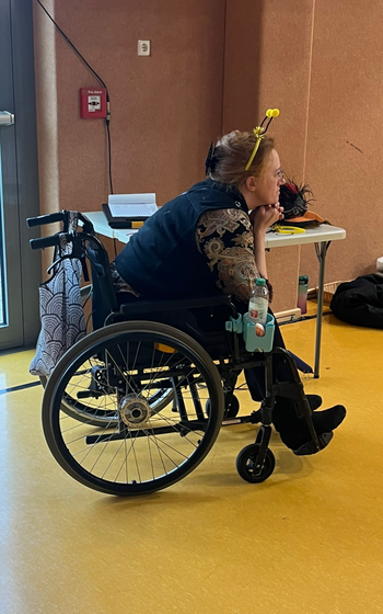
[[[306,170],[316,209],[347,230],[330,246],[327,281],[375,271],[383,255],[383,2],[316,0]],[[316,270],[302,249],[301,271]]]

